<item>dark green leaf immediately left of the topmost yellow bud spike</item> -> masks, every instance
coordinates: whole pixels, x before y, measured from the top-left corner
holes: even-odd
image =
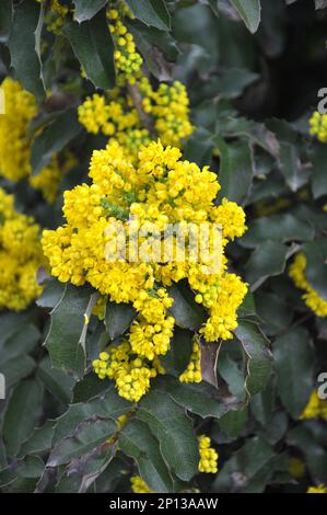
[[[103,9],[91,20],[63,25],[72,49],[84,69],[87,79],[96,88],[108,90],[115,85],[114,44],[108,30],[106,10]]]

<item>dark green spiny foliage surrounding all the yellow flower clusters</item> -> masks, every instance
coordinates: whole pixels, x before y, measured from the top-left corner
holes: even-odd
[[[105,144],[78,125],[77,106],[95,88],[114,85],[110,42],[101,22],[106,1],[73,3],[78,21],[67,21],[56,35],[40,31],[34,0],[0,5],[1,75],[20,79],[39,102],[31,128],[42,128],[32,151],[34,172],[61,148],[79,157],[61,192],[86,180],[92,149]],[[185,159],[211,162],[221,195],[246,210],[249,229],[229,245],[229,255],[250,294],[240,310],[235,339],[217,347],[218,389],[206,381],[182,386],[175,379],[190,352],[189,343],[176,351],[176,342],[189,342],[200,318],[192,299],[180,296],[170,375],[153,385],[109,449],[104,444],[117,432],[114,421],[130,403],[90,373],[90,362],[104,339],[124,332],[126,313],[108,309],[106,327],[91,321],[84,375],[72,356],[89,290],[63,290],[51,281],[26,311],[2,311],[4,492],[130,491],[133,473],[157,491],[305,492],[311,484],[327,483],[326,421],[299,420],[317,375],[327,370],[327,323],[305,306],[288,276],[292,256],[304,250],[310,282],[327,300],[327,148],[308,136],[317,91],[327,83],[324,3],[138,2],[130,31],[147,67],[157,80],[179,79],[190,95],[197,131],[185,146]],[[81,65],[90,80],[81,78]],[[50,100],[46,90],[52,92]],[[62,221],[62,195],[48,206],[24,181],[1,179],[0,185],[14,192],[17,207],[42,226]],[[62,346],[70,353],[66,360]],[[197,473],[195,432],[210,435],[218,449],[217,476]],[[292,458],[304,464],[301,477],[290,468]]]

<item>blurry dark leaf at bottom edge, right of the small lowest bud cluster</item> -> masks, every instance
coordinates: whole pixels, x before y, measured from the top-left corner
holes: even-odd
[[[273,457],[265,440],[250,438],[223,465],[213,483],[214,492],[242,492]]]

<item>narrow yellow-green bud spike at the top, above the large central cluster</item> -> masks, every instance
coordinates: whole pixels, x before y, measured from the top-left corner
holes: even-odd
[[[126,81],[135,84],[140,77],[143,59],[137,52],[132,34],[127,31],[121,21],[121,14],[117,9],[109,9],[107,12],[109,30],[116,47],[114,59],[118,72],[117,79],[119,85],[124,85]]]

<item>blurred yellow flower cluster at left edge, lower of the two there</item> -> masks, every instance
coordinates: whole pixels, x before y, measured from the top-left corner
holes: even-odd
[[[0,188],[0,309],[25,309],[42,291],[36,271],[43,264],[39,227],[16,213],[13,197]]]

